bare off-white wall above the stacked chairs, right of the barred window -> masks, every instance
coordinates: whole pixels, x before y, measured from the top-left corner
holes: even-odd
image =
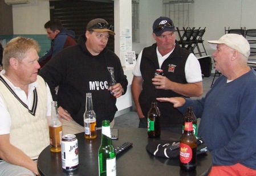
[[[206,51],[211,55],[213,50],[207,40],[217,40],[225,34],[225,27],[256,28],[255,0],[195,0],[195,27],[206,27],[203,36]]]

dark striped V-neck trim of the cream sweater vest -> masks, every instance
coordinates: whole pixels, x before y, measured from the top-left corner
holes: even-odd
[[[36,107],[37,107],[37,103],[38,103],[38,95],[37,95],[37,92],[36,92],[36,88],[33,90],[34,99],[33,99],[32,109],[30,110],[29,107],[28,107],[24,102],[22,102],[22,100],[18,97],[18,95],[14,93],[13,89],[11,89],[11,87],[8,85],[8,83],[5,81],[5,79],[3,79],[2,76],[0,76],[0,81],[2,81],[3,84],[7,87],[7,89],[10,90],[11,94],[13,94],[14,97],[15,97],[16,99],[18,99],[19,102],[20,102],[24,107],[27,108],[27,110],[29,110],[29,113],[32,114],[33,116],[35,116]]]

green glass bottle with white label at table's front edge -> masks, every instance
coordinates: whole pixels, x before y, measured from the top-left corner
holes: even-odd
[[[99,148],[99,175],[116,176],[116,152],[111,141],[109,120],[102,121]]]

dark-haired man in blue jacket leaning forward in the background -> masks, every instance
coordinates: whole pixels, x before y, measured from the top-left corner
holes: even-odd
[[[75,32],[67,30],[62,26],[59,19],[49,20],[44,24],[47,37],[51,39],[51,49],[45,55],[39,58],[40,66],[44,66],[52,57],[54,57],[62,49],[76,44]]]

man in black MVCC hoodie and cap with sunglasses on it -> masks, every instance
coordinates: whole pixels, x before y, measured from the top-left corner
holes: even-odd
[[[113,120],[117,111],[116,98],[124,95],[128,81],[119,57],[106,48],[109,35],[115,35],[106,20],[91,20],[78,45],[59,52],[39,72],[48,83],[52,98],[58,102],[63,133],[84,131],[83,115],[86,111],[86,93],[92,93],[97,127],[102,120]],[[113,70],[116,85],[111,97],[108,82]],[[58,94],[55,87],[59,86]]]

